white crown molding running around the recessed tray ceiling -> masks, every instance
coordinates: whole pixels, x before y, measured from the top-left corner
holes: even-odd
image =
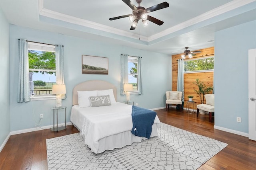
[[[140,40],[146,41],[146,42],[153,41],[153,40],[158,39],[160,37],[164,37],[165,35],[168,35],[170,33],[174,33],[176,31],[184,29],[188,26],[191,26],[191,25],[194,25],[196,23],[208,20],[208,19],[213,18],[215,16],[218,16],[220,14],[224,14],[225,12],[234,10],[236,8],[239,8],[241,6],[244,6],[244,5],[249,4],[251,2],[254,2],[254,1],[255,0],[233,0],[233,1],[228,2],[228,3],[226,3],[222,6],[219,6],[218,8],[214,8],[213,10],[205,12],[204,14],[201,14],[201,15],[195,17],[195,18],[184,21],[184,22],[182,22],[178,25],[175,25],[173,27],[170,27],[169,29],[166,29],[166,30],[164,30],[160,33],[156,33],[155,35],[152,35],[150,37],[140,35]],[[103,24],[95,23],[95,22],[88,21],[88,20],[83,20],[81,18],[76,18],[76,17],[73,17],[73,16],[69,16],[69,15],[66,15],[66,14],[62,14],[62,13],[59,13],[59,12],[48,10],[48,9],[44,8],[44,0],[38,0],[38,11],[39,11],[39,15],[46,16],[46,17],[49,17],[49,18],[53,18],[53,19],[56,19],[56,20],[66,21],[66,22],[69,22],[69,23],[74,23],[74,24],[77,24],[77,25],[82,25],[82,26],[85,26],[85,27],[98,29],[98,30],[101,30],[101,31],[106,31],[106,32],[109,32],[109,33],[114,33],[114,34],[122,35],[122,36],[125,36],[125,37],[130,37],[130,38],[133,38],[133,39],[138,39],[138,36],[139,36],[138,34],[135,34],[135,33],[131,33],[131,32],[128,32],[128,31],[121,30],[121,29],[116,29],[116,28],[113,28],[113,27],[109,27],[109,26],[106,26],[106,25],[103,25]]]

